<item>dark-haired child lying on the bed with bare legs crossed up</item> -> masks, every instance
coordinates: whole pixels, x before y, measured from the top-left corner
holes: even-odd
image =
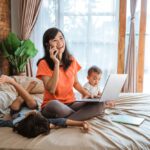
[[[50,129],[57,127],[78,126],[84,131],[89,130],[89,124],[86,121],[75,121],[66,118],[46,119],[38,111],[38,103],[29,94],[35,87],[33,81],[25,90],[14,79],[6,75],[0,77],[0,84],[9,83],[18,91],[18,96],[11,104],[11,120],[0,120],[0,127],[13,127],[17,133],[28,137],[36,137],[40,134],[48,134]]]

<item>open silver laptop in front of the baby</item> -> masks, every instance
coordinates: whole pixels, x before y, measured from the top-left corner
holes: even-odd
[[[76,102],[106,102],[116,100],[119,97],[126,78],[127,74],[110,74],[100,98],[83,98],[77,99]]]

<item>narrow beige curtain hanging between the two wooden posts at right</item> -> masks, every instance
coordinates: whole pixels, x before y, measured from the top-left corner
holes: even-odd
[[[125,73],[128,74],[128,78],[124,85],[124,92],[136,92],[136,50],[135,50],[135,10],[137,0],[130,0],[130,35],[129,44],[127,50],[127,58],[125,65]]]

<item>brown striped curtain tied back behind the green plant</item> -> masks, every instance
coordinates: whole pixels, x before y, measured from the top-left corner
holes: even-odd
[[[20,0],[20,38],[26,40],[30,37],[35,25],[41,0]],[[26,66],[27,76],[33,76],[31,61]]]

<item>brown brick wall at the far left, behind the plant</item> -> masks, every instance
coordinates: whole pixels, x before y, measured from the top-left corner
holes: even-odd
[[[5,39],[11,30],[10,25],[10,1],[1,0],[0,2],[0,42]],[[0,50],[0,74],[9,74],[9,63]]]

